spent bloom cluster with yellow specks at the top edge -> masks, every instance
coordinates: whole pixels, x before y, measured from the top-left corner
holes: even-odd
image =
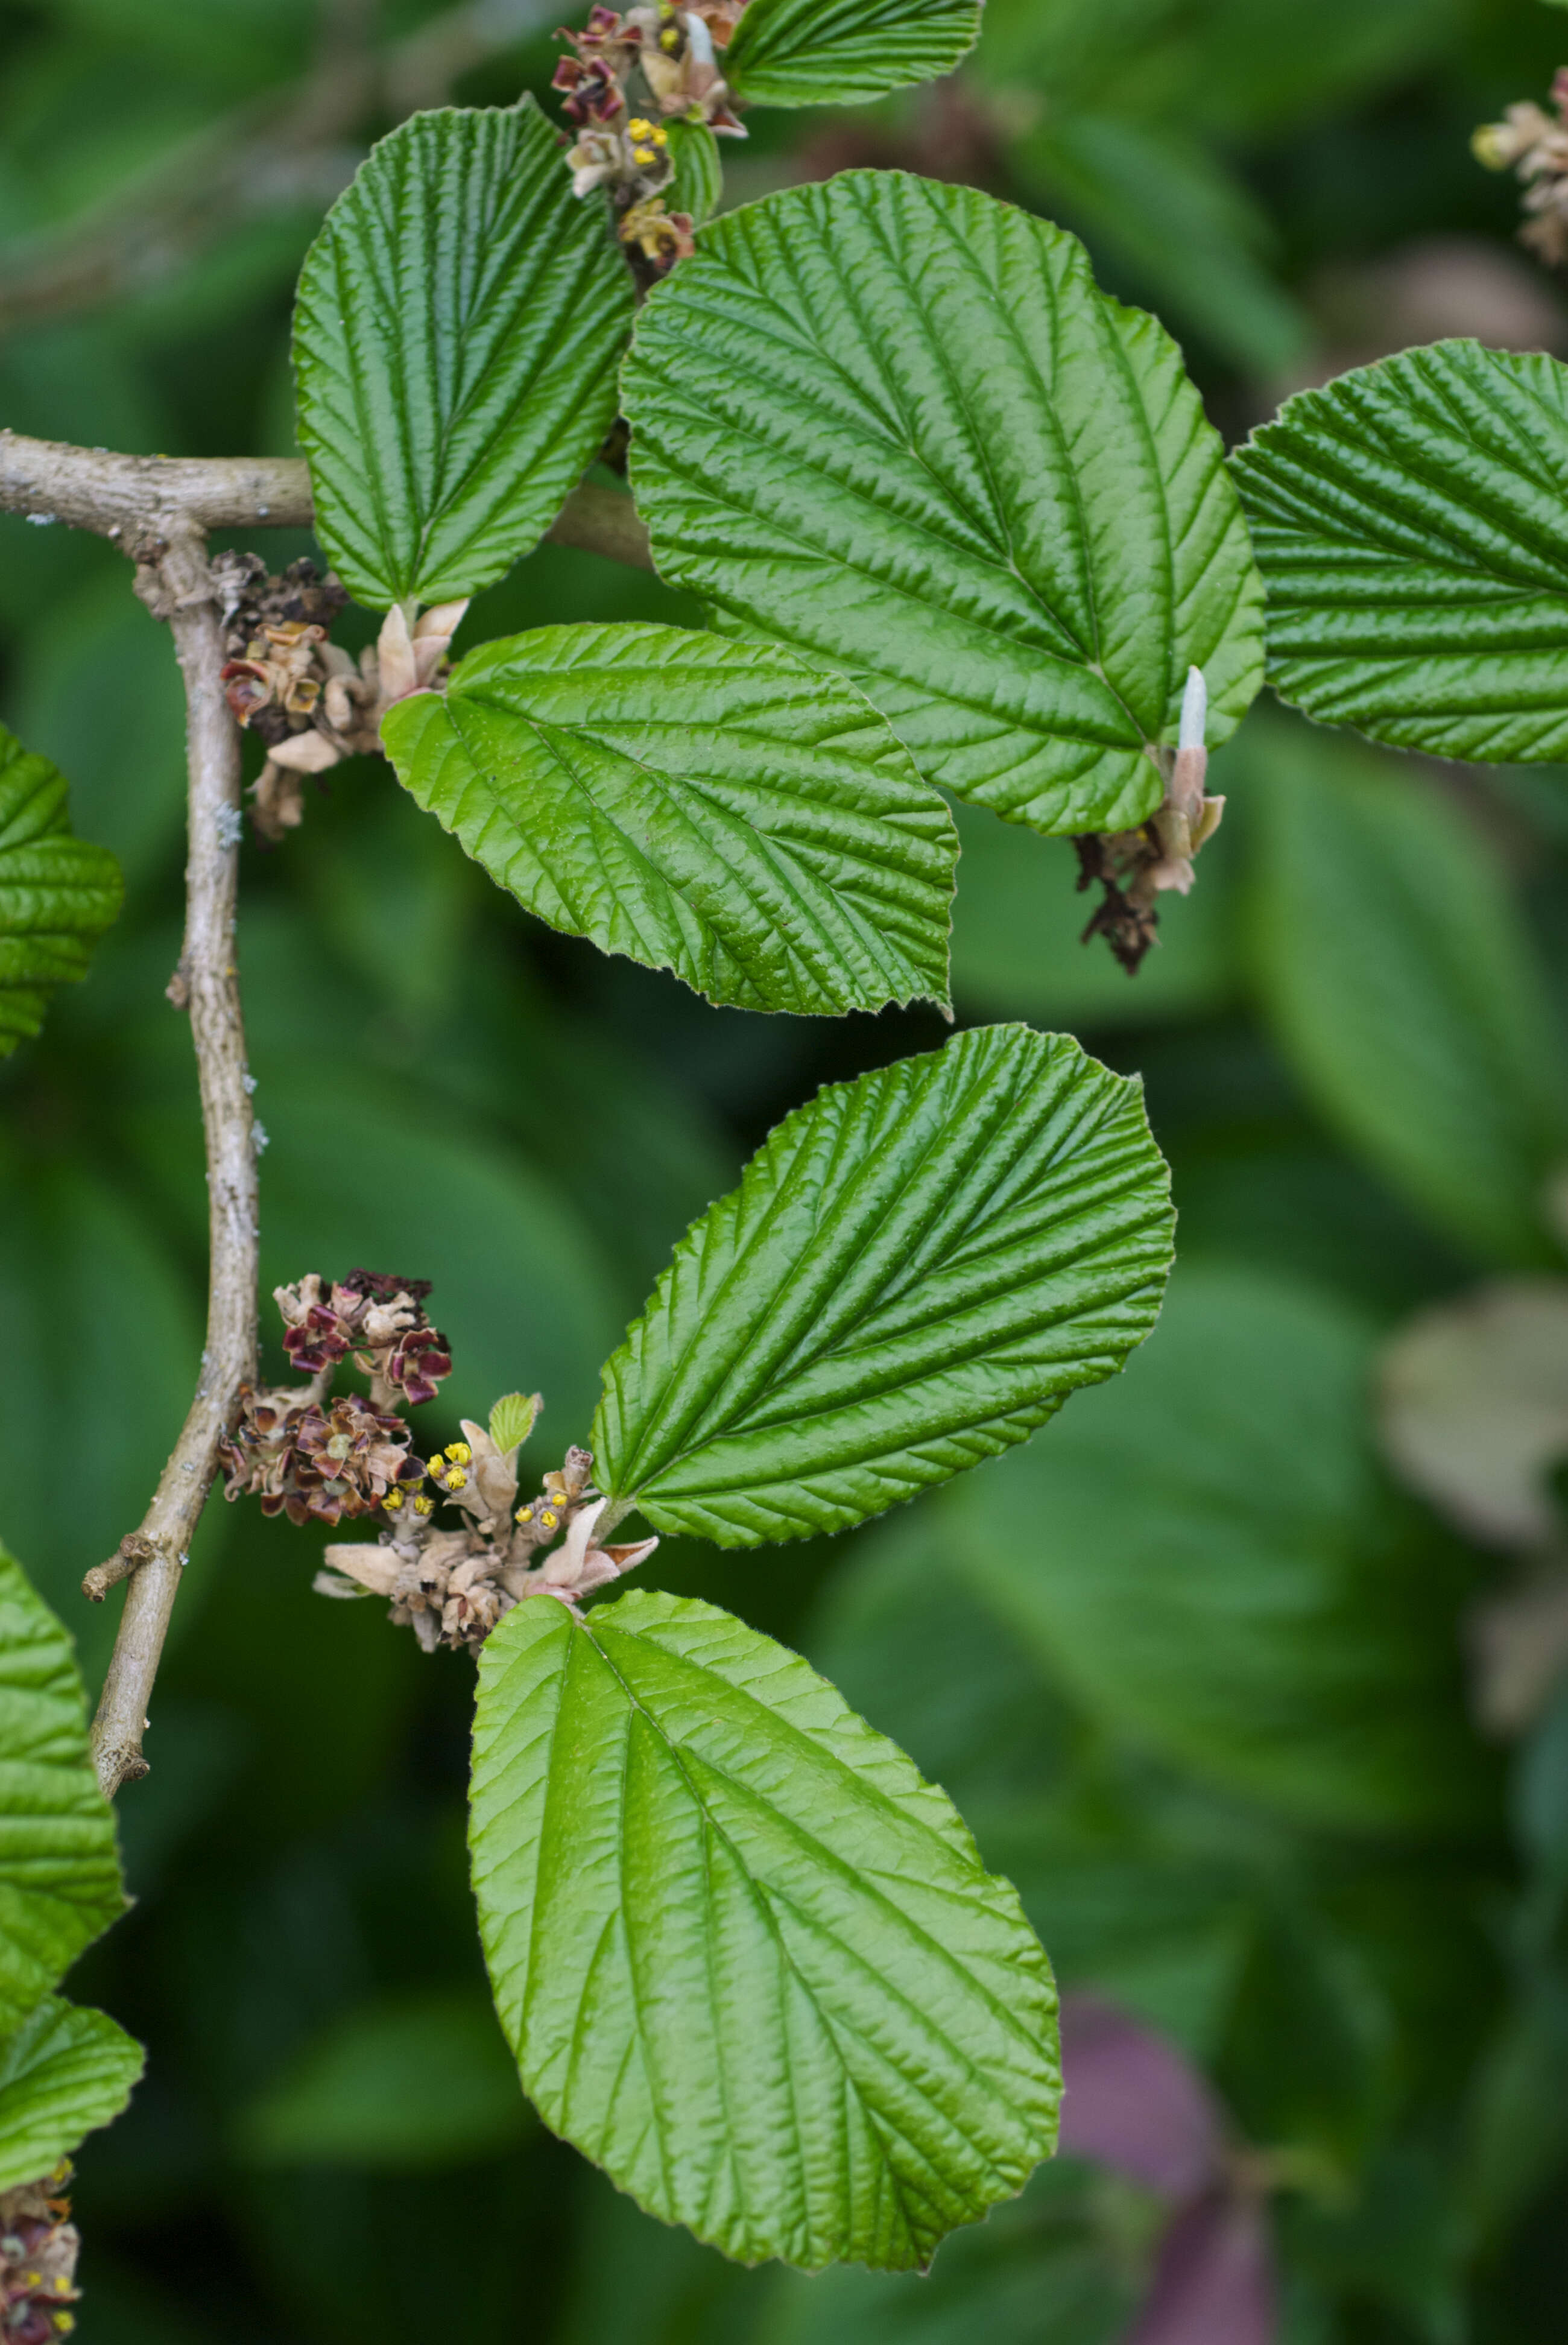
[[[663,277],[691,246],[691,213],[666,211],[675,176],[668,122],[701,122],[745,138],[717,52],[741,21],[745,0],[694,0],[691,7],[612,7],[588,14],[586,33],[560,30],[574,56],[555,66],[563,113],[574,124],[567,152],[572,190],[607,188],[616,230],[633,267]]]

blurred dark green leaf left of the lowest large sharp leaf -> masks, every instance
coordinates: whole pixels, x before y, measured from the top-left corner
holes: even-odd
[[[241,2118],[251,2164],[417,2174],[511,2148],[530,2129],[480,1991],[438,1989],[345,2012]]]

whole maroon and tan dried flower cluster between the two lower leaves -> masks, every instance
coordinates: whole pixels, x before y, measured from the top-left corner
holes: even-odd
[[[436,1395],[450,1374],[445,1337],[424,1313],[429,1280],[349,1271],[279,1287],[284,1351],[302,1386],[248,1388],[223,1468],[230,1498],[260,1498],[263,1515],[291,1522],[354,1522],[377,1515],[380,1543],[326,1550],[321,1595],[377,1595],[427,1651],[483,1644],[513,1604],[548,1595],[577,1604],[659,1545],[600,1545],[605,1498],[593,1459],[567,1449],[537,1496],[518,1505],[518,1452],[539,1416],[539,1395],[497,1400],[490,1426],[462,1421],[462,1440],[420,1459],[401,1409]],[[352,1362],[370,1398],[330,1384]],[[443,1522],[441,1510],[450,1515]]]

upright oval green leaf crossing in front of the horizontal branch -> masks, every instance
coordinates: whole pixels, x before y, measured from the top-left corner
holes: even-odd
[[[375,610],[499,579],[614,422],[633,281],[532,98],[415,115],[338,197],[293,363],[316,535]]]

